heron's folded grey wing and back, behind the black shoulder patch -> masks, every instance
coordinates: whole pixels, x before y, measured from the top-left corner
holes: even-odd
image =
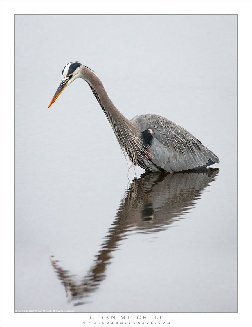
[[[150,160],[168,172],[201,169],[219,163],[219,158],[187,130],[154,114],[131,119],[140,131],[152,129],[153,142],[148,147]]]

